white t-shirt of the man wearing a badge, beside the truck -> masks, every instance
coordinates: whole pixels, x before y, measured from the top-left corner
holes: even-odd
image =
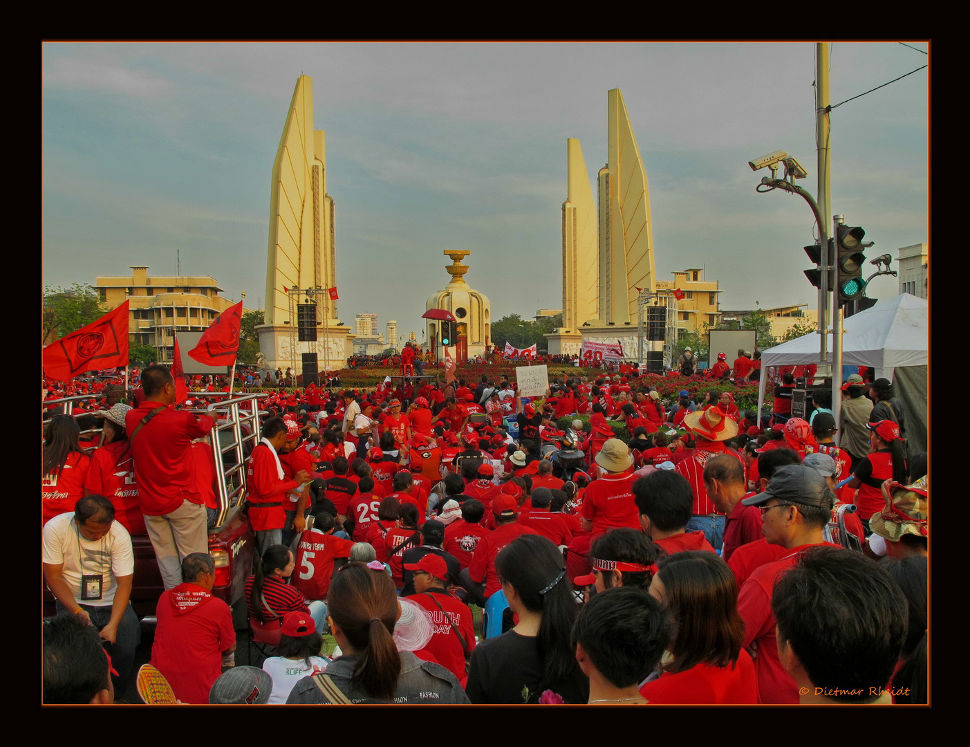
[[[130,576],[135,572],[135,553],[128,530],[113,521],[112,530],[107,535],[101,539],[86,539],[74,522],[74,511],[58,514],[44,525],[42,560],[49,566],[63,564],[64,580],[74,599],[92,607],[111,606],[117,576]],[[102,598],[82,600],[81,574],[92,573],[101,573]]]

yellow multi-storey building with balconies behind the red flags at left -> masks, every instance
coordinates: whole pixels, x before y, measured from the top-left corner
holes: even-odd
[[[154,347],[159,363],[172,363],[176,332],[204,332],[234,303],[219,295],[223,289],[214,277],[149,277],[146,266],[131,270],[131,276],[98,276],[93,287],[108,310],[128,301],[131,340]]]

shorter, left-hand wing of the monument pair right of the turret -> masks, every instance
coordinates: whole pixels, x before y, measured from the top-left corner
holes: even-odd
[[[569,138],[563,203],[563,326],[598,317],[597,208],[579,141]]]

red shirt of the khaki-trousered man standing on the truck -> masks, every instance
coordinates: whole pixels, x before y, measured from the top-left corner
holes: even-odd
[[[142,419],[160,406],[144,402],[128,411],[125,428],[129,439]],[[206,436],[214,425],[209,415],[166,407],[131,439],[142,513],[162,516],[185,501],[205,503],[188,450],[193,438]]]

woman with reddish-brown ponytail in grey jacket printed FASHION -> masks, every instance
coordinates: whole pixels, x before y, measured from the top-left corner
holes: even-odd
[[[326,672],[305,677],[287,703],[468,703],[455,675],[410,651],[398,651],[401,605],[378,561],[348,563],[327,595],[331,631],[343,655]]]

